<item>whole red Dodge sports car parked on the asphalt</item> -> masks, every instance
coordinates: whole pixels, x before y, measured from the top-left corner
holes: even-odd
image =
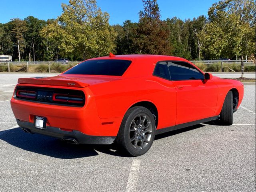
[[[115,140],[139,156],[156,134],[217,118],[231,125],[243,95],[241,82],[183,58],[110,54],[58,76],[19,78],[11,106],[25,132],[75,144]]]

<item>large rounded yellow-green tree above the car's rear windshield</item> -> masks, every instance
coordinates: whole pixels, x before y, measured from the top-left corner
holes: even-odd
[[[57,21],[42,32],[43,38],[58,39],[62,55],[86,59],[114,50],[116,32],[108,23],[108,13],[102,12],[95,0],[70,0],[69,4],[62,4],[62,10]]]

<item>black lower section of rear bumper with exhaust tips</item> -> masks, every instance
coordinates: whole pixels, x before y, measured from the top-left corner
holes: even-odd
[[[91,136],[80,131],[72,132],[62,131],[59,128],[47,126],[46,129],[38,129],[31,122],[22,122],[18,119],[17,123],[21,128],[25,128],[28,132],[38,133],[42,135],[52,136],[59,139],[75,139],[80,144],[112,144],[116,137],[112,136]]]

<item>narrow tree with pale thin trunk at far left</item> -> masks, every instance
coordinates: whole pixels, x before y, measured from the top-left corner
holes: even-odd
[[[20,61],[20,52],[24,52],[24,48],[26,47],[26,41],[24,39],[24,34],[27,30],[26,22],[24,20],[20,20],[19,18],[14,18],[12,20],[12,32],[15,35],[17,45],[18,45],[18,56]]]

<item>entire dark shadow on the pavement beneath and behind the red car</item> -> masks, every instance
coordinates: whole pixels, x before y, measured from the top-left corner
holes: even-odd
[[[203,126],[204,125],[202,124],[198,124],[179,130],[158,134],[155,136],[155,140],[173,136],[175,134],[190,131]],[[0,131],[0,140],[3,140],[12,146],[21,148],[23,150],[60,159],[74,159],[97,156],[98,152],[110,154],[113,156],[129,157],[124,152],[124,150],[115,143],[110,145],[74,145],[49,136],[40,134],[28,134],[23,132],[20,128]]]

